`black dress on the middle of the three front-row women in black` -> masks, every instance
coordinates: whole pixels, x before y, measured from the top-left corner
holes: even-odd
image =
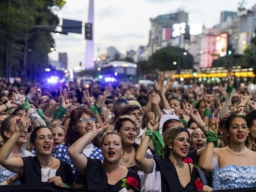
[[[137,180],[138,186],[133,188],[132,186],[127,186],[127,190],[132,189],[134,191],[140,191],[140,178],[137,173],[132,169],[128,169],[126,175],[127,178],[132,178]],[[102,162],[98,159],[89,159],[87,162],[87,167],[85,169],[85,188],[88,191],[120,191],[124,188],[123,179],[119,180],[115,185],[108,184],[108,177],[106,175],[105,169],[102,165]]]

